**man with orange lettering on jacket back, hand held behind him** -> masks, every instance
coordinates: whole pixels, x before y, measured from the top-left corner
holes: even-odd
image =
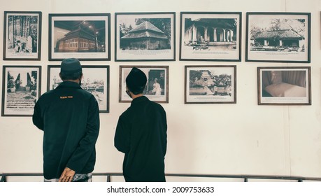
[[[63,82],[36,102],[32,120],[43,130],[45,181],[92,181],[99,134],[99,108],[94,96],[80,87],[78,59],[64,59]]]

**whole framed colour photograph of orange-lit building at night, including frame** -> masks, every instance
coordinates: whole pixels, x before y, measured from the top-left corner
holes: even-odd
[[[110,60],[110,13],[49,14],[49,60]]]

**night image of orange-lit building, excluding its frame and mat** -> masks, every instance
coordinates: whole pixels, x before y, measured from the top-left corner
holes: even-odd
[[[55,21],[55,52],[105,52],[104,21]]]

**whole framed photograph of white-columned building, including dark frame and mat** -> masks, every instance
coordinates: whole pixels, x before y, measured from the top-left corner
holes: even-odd
[[[241,61],[241,13],[180,13],[180,60]]]

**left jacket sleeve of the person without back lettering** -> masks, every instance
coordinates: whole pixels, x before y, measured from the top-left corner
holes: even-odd
[[[129,130],[125,127],[124,120],[120,116],[114,138],[114,145],[118,151],[128,153],[130,150]]]

